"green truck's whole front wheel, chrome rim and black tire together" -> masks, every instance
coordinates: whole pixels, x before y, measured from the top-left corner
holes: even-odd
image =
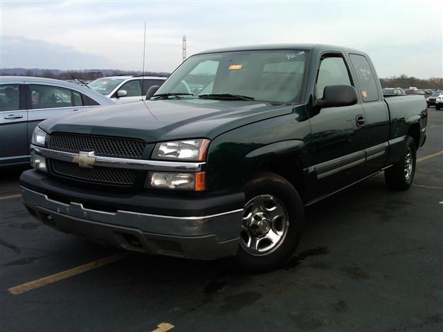
[[[240,245],[235,260],[240,268],[266,271],[281,266],[300,242],[305,211],[297,190],[286,179],[260,172],[244,187],[245,204]]]

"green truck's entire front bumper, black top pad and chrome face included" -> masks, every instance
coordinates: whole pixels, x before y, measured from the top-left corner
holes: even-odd
[[[210,199],[100,194],[60,183],[36,170],[24,172],[20,180],[22,200],[30,214],[62,232],[152,255],[217,259],[237,252],[243,193]],[[118,208],[111,210],[109,200]],[[138,208],[127,210],[131,202]],[[156,205],[156,210],[149,209],[150,205]],[[170,214],[157,214],[168,205]],[[177,205],[190,208],[180,210]]]

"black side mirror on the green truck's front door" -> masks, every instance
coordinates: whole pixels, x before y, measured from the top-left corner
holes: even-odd
[[[354,86],[350,85],[328,85],[323,90],[323,98],[316,101],[316,106],[341,107],[351,106],[358,102]]]

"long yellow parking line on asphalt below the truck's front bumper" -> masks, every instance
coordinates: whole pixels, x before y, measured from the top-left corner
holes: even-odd
[[[120,254],[98,259],[97,261],[91,261],[90,263],[83,264],[75,268],[70,268],[69,270],[64,270],[60,273],[48,275],[48,277],[43,277],[34,280],[33,282],[26,282],[26,284],[21,284],[19,286],[11,287],[8,289],[8,292],[13,295],[26,293],[28,291],[32,291],[35,288],[46,286],[48,284],[53,284],[54,282],[59,282],[62,279],[73,277],[74,275],[80,275],[80,273],[85,273],[89,270],[93,270],[94,268],[99,268],[100,266],[114,263],[114,261],[119,261],[120,259],[123,259],[126,255],[127,255],[126,252],[121,252]]]

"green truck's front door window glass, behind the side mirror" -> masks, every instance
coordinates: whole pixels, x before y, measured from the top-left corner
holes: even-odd
[[[340,55],[324,55],[320,59],[315,91],[317,99],[323,98],[323,91],[328,85],[352,85],[345,61]]]

